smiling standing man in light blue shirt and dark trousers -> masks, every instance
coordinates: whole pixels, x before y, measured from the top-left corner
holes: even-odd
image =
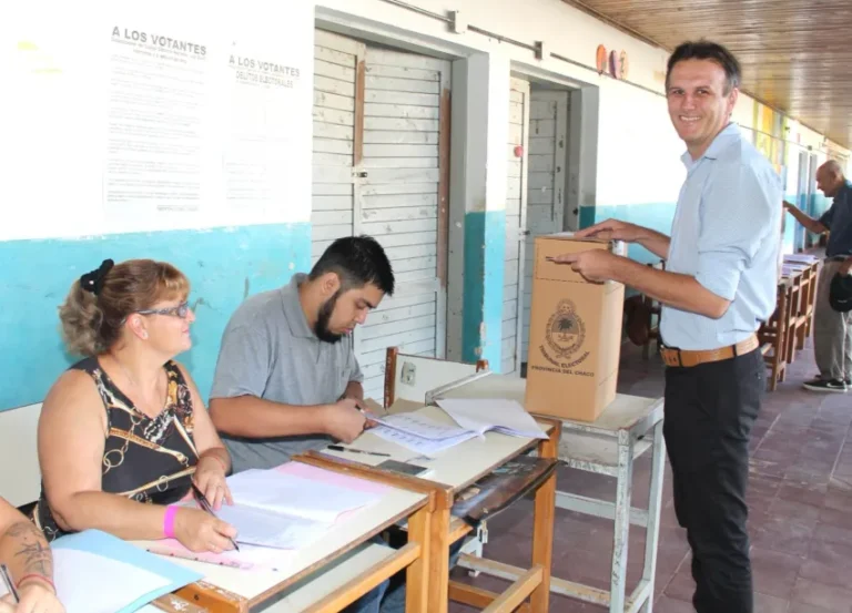
[[[746,484],[765,386],[755,333],[775,307],[781,243],[778,175],[731,123],[739,83],[739,62],[723,47],[678,47],[666,90],[687,178],[671,237],[613,219],[578,233],[639,243],[667,259],[666,270],[600,249],[557,258],[662,303],[663,433],[699,613],[753,610]]]

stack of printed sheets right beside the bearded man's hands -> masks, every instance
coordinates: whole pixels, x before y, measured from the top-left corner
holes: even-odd
[[[434,456],[477,436],[465,428],[439,423],[417,413],[396,413],[383,418],[371,415],[369,418],[379,425],[371,432],[424,456]]]

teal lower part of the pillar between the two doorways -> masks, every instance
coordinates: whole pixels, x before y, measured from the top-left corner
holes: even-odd
[[[498,370],[503,349],[503,284],[506,259],[506,212],[465,215],[465,292],[462,356],[487,359]]]

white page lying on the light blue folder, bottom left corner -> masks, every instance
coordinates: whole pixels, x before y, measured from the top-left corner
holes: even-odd
[[[65,613],[115,613],[169,580],[132,564],[75,549],[53,550],[53,582]],[[121,581],[105,581],[120,576]],[[0,597],[7,593],[0,582]]]

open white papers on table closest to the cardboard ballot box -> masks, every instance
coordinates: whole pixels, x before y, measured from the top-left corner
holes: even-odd
[[[484,435],[496,430],[515,437],[546,439],[547,435],[516,400],[503,398],[442,398],[438,406],[462,428]]]

